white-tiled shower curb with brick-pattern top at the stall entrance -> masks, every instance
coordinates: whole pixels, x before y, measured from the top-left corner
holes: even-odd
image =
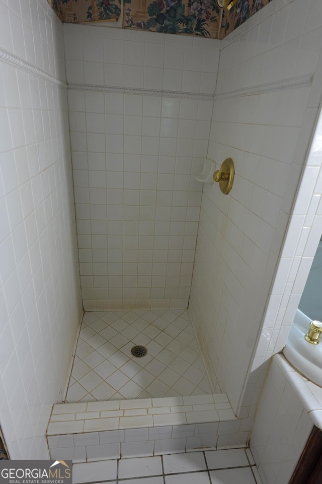
[[[52,459],[90,462],[246,445],[225,393],[59,403],[47,429]]]

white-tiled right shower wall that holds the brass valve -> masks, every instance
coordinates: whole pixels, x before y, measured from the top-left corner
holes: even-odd
[[[278,262],[281,262],[281,271],[282,265],[285,266],[281,277],[278,275],[275,279],[279,283],[279,289],[274,292],[276,295],[283,293],[290,272],[296,244],[292,245],[293,253],[289,261],[286,258],[279,260],[278,256],[299,180],[301,168],[298,170],[298,166],[301,167],[306,158],[306,152],[297,149],[296,140],[301,140],[307,149],[314,120],[310,130],[307,130],[310,86],[298,90],[286,89],[283,93],[259,91],[256,96],[228,95],[222,100],[216,96],[252,85],[260,86],[269,81],[282,81],[299,74],[309,75],[315,69],[319,72],[316,66],[321,39],[315,45],[316,50],[313,49],[309,55],[308,62],[300,60],[304,45],[309,42],[309,38],[312,40],[314,37],[314,30],[306,36],[302,29],[296,28],[296,18],[302,12],[300,4],[281,4],[272,16],[261,19],[259,16],[256,24],[246,22],[243,25],[247,30],[240,29],[231,37],[228,36],[231,39],[229,42],[225,40],[221,43],[207,156],[218,166],[226,157],[232,157],[236,174],[228,197],[222,197],[216,186],[204,187],[189,311],[197,328],[197,339],[203,348],[208,371],[216,375],[221,390],[227,393],[235,411],[238,408],[240,411],[241,406],[244,406],[240,395],[246,379],[252,379],[252,373],[248,374],[247,370],[251,355],[243,350],[236,332],[243,341],[247,341],[247,345],[258,347],[252,365],[254,378],[255,375],[259,377],[258,388],[265,375],[265,368],[262,367],[261,371],[261,365],[272,355],[273,350],[279,351],[286,341],[294,297],[285,298],[284,307],[287,304],[290,306],[284,317],[285,330],[280,331],[279,337],[277,333],[282,318],[277,323],[277,313],[273,319],[271,312],[264,322],[259,341],[254,338],[254,334],[259,333],[262,324],[262,315],[275,276],[273,268]],[[313,4],[312,8],[316,10]],[[282,22],[283,19],[285,22]],[[287,25],[288,34],[284,40],[283,29],[277,27],[280,22]],[[277,30],[279,34],[275,34]],[[289,43],[291,32],[294,33],[292,46]],[[255,47],[254,42],[257,42]],[[238,45],[243,45],[243,50],[250,52],[251,58],[240,57]],[[245,45],[248,46],[246,49]],[[282,53],[283,58],[293,56],[295,60],[290,64],[281,61],[284,69],[279,70],[277,64]],[[295,61],[299,63],[298,69]],[[315,105],[318,99],[316,97],[309,105]],[[274,184],[272,178],[276,163],[281,163],[284,173],[284,183],[281,184]],[[308,161],[308,165],[310,163]],[[312,165],[312,169],[311,166],[307,167],[310,193],[318,171],[316,165]],[[272,183],[269,179],[272,179]],[[307,194],[305,187],[301,193],[304,192]],[[306,214],[308,210],[304,197],[308,200],[311,195],[298,198],[301,211],[296,213],[300,215]],[[300,226],[300,220],[298,222]],[[320,234],[321,229],[313,237],[313,246],[317,244],[318,232]],[[299,238],[298,232],[289,238],[294,240],[294,237]],[[287,262],[290,264],[287,265]],[[307,265],[309,263],[308,260]],[[296,295],[299,297],[299,294]],[[253,308],[251,312],[250,307]],[[198,324],[201,321],[202,324]],[[231,371],[232,368],[235,371]],[[257,395],[254,380],[247,386],[244,402],[247,401],[247,405],[252,402],[256,404]],[[251,419],[248,426],[250,424]]]

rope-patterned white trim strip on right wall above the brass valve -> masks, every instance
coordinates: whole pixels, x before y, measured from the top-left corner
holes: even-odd
[[[313,76],[314,74],[306,74],[305,76],[297,76],[289,79],[283,79],[282,81],[272,81],[244,89],[237,89],[236,91],[215,94],[214,100],[221,101],[230,97],[251,96],[252,94],[264,94],[265,92],[308,87],[312,85]]]

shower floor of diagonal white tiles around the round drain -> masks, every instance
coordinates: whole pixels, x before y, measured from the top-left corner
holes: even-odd
[[[85,313],[75,353],[68,403],[211,393],[187,311]]]

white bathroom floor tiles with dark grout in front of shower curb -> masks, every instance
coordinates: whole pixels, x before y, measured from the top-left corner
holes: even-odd
[[[253,462],[249,449],[226,449],[79,463],[73,465],[73,484],[261,484],[256,466],[244,459],[245,451]],[[215,455],[224,468],[209,470],[218,464],[210,464]]]

